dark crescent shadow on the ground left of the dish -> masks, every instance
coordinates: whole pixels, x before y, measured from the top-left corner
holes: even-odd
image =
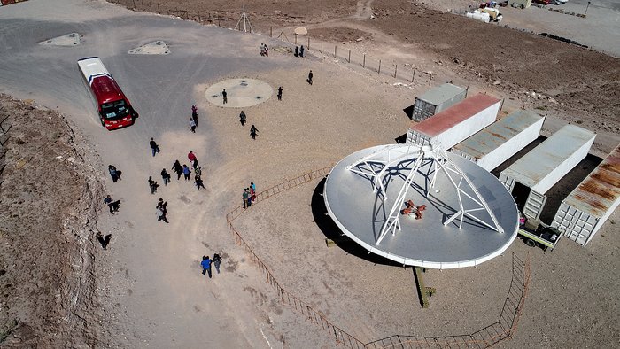
[[[323,199],[323,189],[325,188],[326,178],[323,178],[321,182],[314,189],[314,193],[312,195],[312,215],[314,217],[314,222],[321,229],[323,235],[326,238],[334,241],[337,247],[331,248],[340,248],[348,254],[352,254],[355,257],[358,257],[362,260],[368,260],[371,263],[375,264],[384,264],[388,266],[394,267],[402,267],[401,264],[388,260],[382,256],[376,255],[374,253],[369,253],[364,247],[360,246],[360,244],[355,243],[352,239],[345,236],[340,228],[336,225],[336,223],[331,219],[329,213],[327,212],[327,207],[325,206],[325,201]]]

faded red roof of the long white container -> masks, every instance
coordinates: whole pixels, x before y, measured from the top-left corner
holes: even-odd
[[[429,119],[423,120],[411,127],[412,130],[429,137],[438,136],[446,129],[453,128],[478,112],[500,102],[500,99],[488,95],[478,94],[469,97],[443,112],[439,112]]]

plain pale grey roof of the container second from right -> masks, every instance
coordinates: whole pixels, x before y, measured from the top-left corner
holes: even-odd
[[[501,173],[532,188],[594,136],[585,128],[566,125]]]

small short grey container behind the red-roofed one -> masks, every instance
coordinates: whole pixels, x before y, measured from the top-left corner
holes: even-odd
[[[461,102],[467,97],[467,89],[445,83],[435,89],[415,97],[414,109],[411,119],[422,121],[442,112],[447,108]]]

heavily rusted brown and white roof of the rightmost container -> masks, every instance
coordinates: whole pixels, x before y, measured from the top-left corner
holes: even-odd
[[[620,200],[620,145],[585,177],[564,203],[581,212],[602,217]]]

